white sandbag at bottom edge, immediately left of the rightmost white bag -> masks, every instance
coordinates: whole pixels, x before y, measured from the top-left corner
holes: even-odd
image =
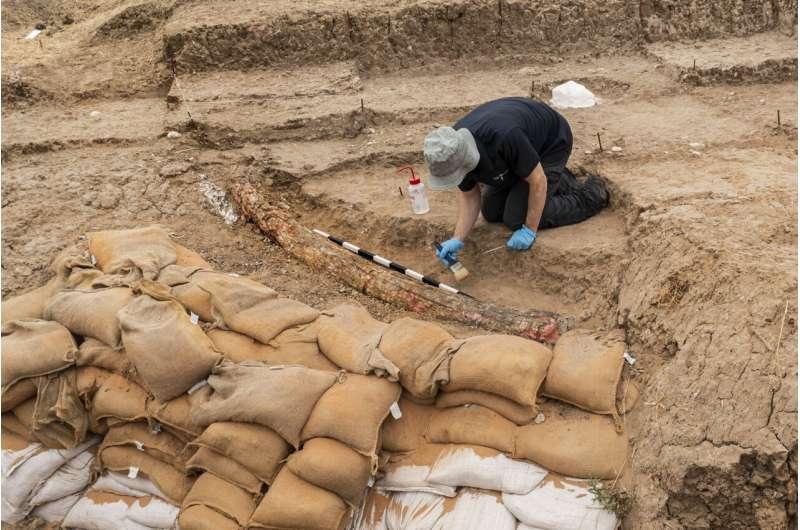
[[[452,509],[445,505],[445,514],[432,530],[516,530],[517,520],[503,506],[499,493],[463,489]]]

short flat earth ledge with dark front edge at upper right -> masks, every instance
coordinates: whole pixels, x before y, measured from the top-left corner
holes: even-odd
[[[778,32],[702,42],[660,42],[647,51],[693,85],[773,83],[797,77],[797,42]]]

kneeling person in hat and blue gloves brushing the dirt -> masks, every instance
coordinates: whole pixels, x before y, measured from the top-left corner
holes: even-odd
[[[603,181],[567,169],[572,131],[558,112],[527,98],[489,101],[425,138],[429,187],[458,186],[458,219],[437,257],[455,260],[478,213],[512,230],[507,246],[528,250],[540,228],[579,223],[608,204]],[[483,188],[483,190],[481,190]]]

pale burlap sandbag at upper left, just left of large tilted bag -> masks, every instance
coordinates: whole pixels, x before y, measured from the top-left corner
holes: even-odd
[[[75,335],[93,337],[109,346],[120,343],[117,313],[133,299],[127,287],[61,291],[47,304],[44,318],[66,326]]]

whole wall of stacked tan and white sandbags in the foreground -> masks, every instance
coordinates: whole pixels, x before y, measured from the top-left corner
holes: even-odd
[[[614,333],[569,332],[552,351],[456,338],[281,297],[159,227],[87,241],[46,286],[3,302],[4,521],[616,523],[586,482],[618,478],[627,461]],[[40,450],[59,455],[61,475],[26,463]],[[59,488],[78,464],[76,486]]]

